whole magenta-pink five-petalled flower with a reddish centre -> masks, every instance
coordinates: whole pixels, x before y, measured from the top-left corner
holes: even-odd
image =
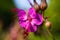
[[[34,8],[30,8],[27,13],[20,9],[18,12],[18,18],[20,26],[28,32],[35,32],[37,30],[37,26],[41,25],[43,22],[42,15],[36,13]]]

